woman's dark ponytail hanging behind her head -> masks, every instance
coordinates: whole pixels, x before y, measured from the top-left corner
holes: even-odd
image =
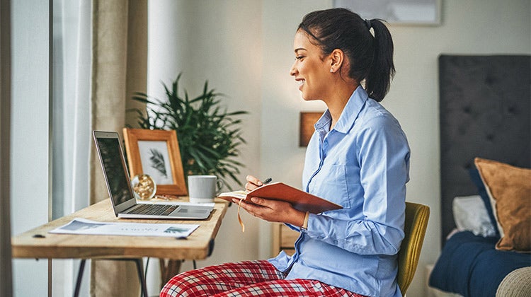
[[[378,19],[367,21],[375,32],[372,66],[365,78],[365,88],[370,98],[382,101],[389,92],[394,76],[393,40],[387,27]]]

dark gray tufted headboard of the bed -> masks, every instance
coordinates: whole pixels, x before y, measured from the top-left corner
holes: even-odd
[[[531,56],[439,57],[442,243],[474,157],[531,167]]]

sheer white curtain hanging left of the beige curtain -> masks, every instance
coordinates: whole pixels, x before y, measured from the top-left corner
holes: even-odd
[[[89,206],[90,24],[90,0],[53,1],[52,219]],[[52,265],[55,296],[71,295],[79,260]]]

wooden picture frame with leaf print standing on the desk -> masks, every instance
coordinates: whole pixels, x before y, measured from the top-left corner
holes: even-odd
[[[131,178],[150,175],[156,183],[157,195],[188,195],[175,130],[124,128],[122,131]]]

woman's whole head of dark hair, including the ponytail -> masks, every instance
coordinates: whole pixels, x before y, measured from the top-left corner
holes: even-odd
[[[374,37],[370,29],[374,30]],[[363,20],[346,8],[308,13],[297,30],[304,30],[323,54],[342,50],[350,61],[348,76],[365,80],[369,96],[382,101],[394,76],[393,40],[382,20]]]

